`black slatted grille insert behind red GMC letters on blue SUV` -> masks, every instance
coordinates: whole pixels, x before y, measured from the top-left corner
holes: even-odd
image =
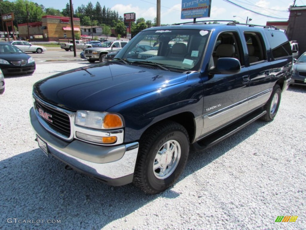
[[[50,128],[52,128],[54,131],[62,134],[63,136],[65,136],[66,138],[70,137],[70,133],[71,133],[71,128],[70,128],[70,119],[68,114],[51,108],[50,106],[47,106],[45,104],[43,104],[42,102],[40,102],[39,100],[37,100],[35,98],[35,102],[34,102],[35,108],[37,109],[37,111],[39,111],[39,109],[43,110],[43,112],[50,114],[52,117],[50,117],[51,121],[46,120],[45,118],[40,117],[43,119],[43,121],[45,121]],[[52,131],[52,130],[51,130]]]

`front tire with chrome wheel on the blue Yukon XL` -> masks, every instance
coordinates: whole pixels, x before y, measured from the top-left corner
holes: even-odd
[[[157,194],[172,186],[188,159],[189,138],[186,129],[173,121],[161,122],[146,131],[139,146],[134,185],[147,194]]]

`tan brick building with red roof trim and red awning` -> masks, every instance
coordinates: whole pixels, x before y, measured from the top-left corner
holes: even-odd
[[[80,18],[73,18],[75,33],[80,33]],[[19,36],[28,37],[27,23],[18,24]],[[41,22],[29,23],[30,39],[35,41],[58,41],[60,39],[72,39],[72,31],[69,17],[45,15]],[[32,37],[32,38],[31,38]]]

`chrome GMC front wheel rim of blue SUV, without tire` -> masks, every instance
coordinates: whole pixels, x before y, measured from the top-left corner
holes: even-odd
[[[153,173],[158,179],[169,177],[176,169],[181,158],[181,145],[176,140],[169,140],[164,143],[153,163]]]

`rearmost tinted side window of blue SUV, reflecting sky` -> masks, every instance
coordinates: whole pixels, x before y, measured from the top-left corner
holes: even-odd
[[[274,58],[292,55],[292,49],[287,36],[278,30],[265,30]]]

